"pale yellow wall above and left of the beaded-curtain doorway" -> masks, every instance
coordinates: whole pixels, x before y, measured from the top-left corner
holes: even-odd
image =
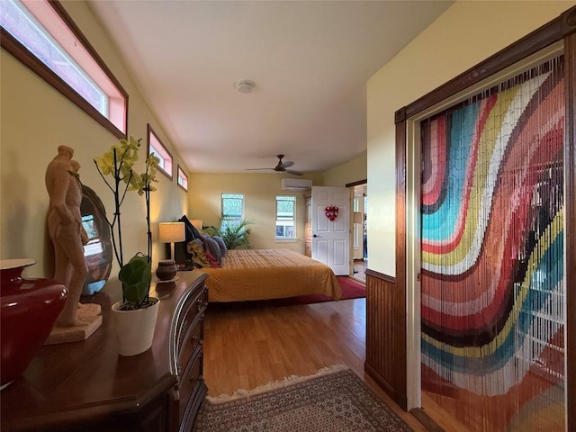
[[[369,267],[395,272],[394,112],[575,2],[458,1],[367,82]]]

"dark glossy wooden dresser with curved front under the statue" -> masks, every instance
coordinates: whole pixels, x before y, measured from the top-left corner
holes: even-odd
[[[102,305],[102,326],[85,341],[40,348],[23,376],[0,392],[1,430],[191,430],[207,392],[208,275],[193,270],[177,277],[153,283],[151,295],[160,298],[154,342],[138,356],[118,355],[110,307],[121,300],[120,284],[90,297]]]

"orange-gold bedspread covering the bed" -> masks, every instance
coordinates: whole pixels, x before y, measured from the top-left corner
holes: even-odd
[[[202,268],[209,302],[245,302],[324,294],[340,299],[332,269],[290,249],[234,249],[221,268]]]

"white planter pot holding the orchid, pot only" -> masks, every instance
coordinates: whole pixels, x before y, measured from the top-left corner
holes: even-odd
[[[136,311],[119,311],[122,302],[112,304],[113,326],[121,356],[136,356],[152,347],[160,301],[156,297],[150,297],[150,301],[156,303]]]

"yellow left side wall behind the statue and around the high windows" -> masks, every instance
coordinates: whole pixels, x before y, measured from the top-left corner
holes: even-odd
[[[158,124],[146,101],[130,78],[111,41],[94,21],[84,2],[62,2],[67,12],[90,40],[94,49],[130,94],[129,134],[146,142],[149,122],[175,157],[175,164],[184,166],[162,125]],[[49,197],[44,185],[44,172],[56,156],[60,144],[75,148],[80,162],[82,182],[94,189],[112,212],[112,194],[97,175],[93,158],[101,155],[116,138],[7,54],[0,53],[2,89],[0,112],[0,257],[26,257],[37,264],[26,270],[30,277],[53,275],[52,245],[46,231]],[[141,150],[142,159],[145,149]],[[142,166],[140,166],[141,168]],[[139,169],[141,171],[141,169]],[[166,176],[158,175],[157,192],[152,193],[152,233],[157,236],[157,222],[174,220],[187,208],[187,196]],[[142,197],[129,193],[123,204],[122,234],[125,255],[146,252],[146,214]],[[155,242],[153,267],[164,258],[164,245]],[[112,275],[118,273],[117,267]]]

